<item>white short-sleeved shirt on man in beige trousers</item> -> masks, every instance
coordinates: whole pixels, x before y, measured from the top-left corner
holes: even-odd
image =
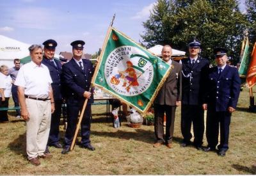
[[[14,84],[24,87],[25,95],[45,99],[49,97],[51,83],[49,69],[42,63],[38,66],[31,61],[20,67]]]

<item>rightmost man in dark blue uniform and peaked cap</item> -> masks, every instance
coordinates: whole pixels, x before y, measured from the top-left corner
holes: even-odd
[[[217,66],[210,68],[208,80],[205,83],[207,92],[203,108],[207,110],[206,138],[208,146],[204,148],[204,151],[216,150],[220,123],[218,155],[225,156],[228,150],[230,117],[236,110],[241,80],[237,68],[227,65],[227,51],[217,48],[214,53]]]

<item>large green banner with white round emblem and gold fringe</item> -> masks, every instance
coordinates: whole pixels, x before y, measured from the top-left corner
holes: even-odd
[[[92,83],[145,113],[172,67],[110,27]]]

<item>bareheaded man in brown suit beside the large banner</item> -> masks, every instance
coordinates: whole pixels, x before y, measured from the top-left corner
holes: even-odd
[[[168,148],[172,148],[174,119],[176,106],[180,105],[181,101],[181,70],[180,63],[173,61],[172,47],[164,45],[162,49],[163,61],[171,65],[171,72],[159,91],[156,100],[154,101],[154,116],[155,116],[155,134],[157,142],[153,147],[160,147],[164,143]],[[166,134],[164,138],[163,119],[166,113]]]

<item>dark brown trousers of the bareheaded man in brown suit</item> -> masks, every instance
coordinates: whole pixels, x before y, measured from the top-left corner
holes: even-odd
[[[157,142],[172,143],[176,106],[154,104],[155,134]],[[166,113],[166,134],[164,137],[164,113]]]

